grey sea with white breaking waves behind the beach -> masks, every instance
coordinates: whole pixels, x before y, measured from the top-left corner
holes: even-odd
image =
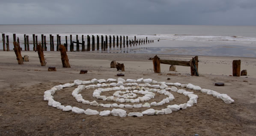
[[[68,49],[70,35],[72,40],[78,39],[87,44],[87,35],[101,35],[112,37],[112,47],[106,51],[100,49],[90,52],[110,53],[140,53],[140,54],[167,54],[167,55],[204,55],[204,56],[234,56],[256,57],[256,26],[202,26],[202,25],[0,25],[0,33],[9,35],[10,49],[13,49],[13,37],[20,39],[20,45],[24,48],[24,34],[29,35],[30,50],[33,50],[33,37],[46,36],[48,51],[50,50],[50,34],[54,36],[54,45],[57,45],[57,35],[61,36],[61,43],[65,43],[68,37]],[[113,47],[113,36],[128,36],[128,40],[148,39],[151,43],[137,45],[120,45]],[[2,42],[2,36],[0,36]],[[115,41],[116,42],[116,41]],[[123,39],[122,39],[123,42]],[[91,41],[92,43],[92,41]],[[125,41],[126,43],[126,41]],[[0,50],[3,50],[0,43]],[[96,39],[95,39],[96,44]],[[109,44],[109,43],[108,43]],[[101,44],[100,44],[101,46]],[[109,46],[109,45],[108,45]],[[74,47],[76,49],[76,47]],[[81,49],[81,46],[80,46]],[[55,49],[56,51],[56,49]]]

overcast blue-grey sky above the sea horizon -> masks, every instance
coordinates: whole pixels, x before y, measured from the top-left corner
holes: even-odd
[[[0,24],[256,25],[256,0],[0,0]]]

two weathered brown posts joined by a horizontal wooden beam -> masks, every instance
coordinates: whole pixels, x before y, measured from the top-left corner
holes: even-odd
[[[154,72],[160,73],[160,63],[161,64],[169,64],[169,65],[179,65],[179,66],[186,66],[186,67],[191,67],[191,75],[196,75],[199,76],[198,73],[198,56],[193,57],[190,61],[174,61],[174,60],[161,60],[159,58],[159,64],[158,64],[158,57],[157,55],[154,58],[149,58],[149,60],[153,60],[154,64]],[[155,59],[155,61],[154,61]],[[158,69],[159,67],[159,69]]]

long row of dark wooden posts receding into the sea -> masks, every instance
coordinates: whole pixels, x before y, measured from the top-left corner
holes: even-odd
[[[6,43],[5,43],[5,37],[6,37]],[[9,51],[9,35],[2,34],[2,38],[3,38],[3,51]],[[54,51],[54,36],[50,35],[50,51]],[[82,46],[82,50],[81,51],[90,51],[91,47],[92,47],[92,51],[95,50],[99,50],[100,49],[100,37],[97,35],[96,40],[96,49],[95,49],[95,36],[92,35],[92,40],[91,36],[87,35],[87,48],[85,48],[85,41],[83,40],[83,35],[82,35],[82,42],[79,42],[78,40],[78,35],[76,35],[76,41],[72,41],[72,35],[70,35],[70,48],[69,51],[74,52],[74,43],[76,45],[76,50],[77,52],[80,51],[80,44]],[[123,39],[123,42],[122,42]],[[13,42],[16,41],[16,34],[13,34]],[[92,44],[91,44],[92,41]],[[113,35],[113,40],[111,35],[109,36],[109,41],[108,41],[108,37],[107,35],[105,35],[105,41],[104,41],[104,36],[101,35],[101,50],[105,51],[107,48],[111,48],[112,47],[112,41],[113,41],[113,47],[117,46],[120,48],[125,48],[125,44],[128,47],[130,46],[137,46],[137,44],[147,44],[147,43],[154,43],[154,40],[148,40],[148,38],[146,37],[146,39],[136,39],[136,36],[134,36],[134,39],[129,39],[128,40],[128,36],[126,36],[126,42],[125,42],[125,36],[120,36],[120,43],[119,43],[119,36]],[[19,38],[17,39],[17,42],[19,43]],[[36,51],[37,49],[37,45],[38,45],[38,36],[33,34],[33,51]],[[46,36],[45,35],[41,35],[41,43],[42,43],[42,49],[47,51],[47,44],[46,44]],[[57,46],[56,46],[56,50],[59,51],[60,47],[59,45],[61,44],[61,36],[57,35]],[[91,46],[92,45],[92,46]],[[68,51],[68,36],[65,36],[65,43],[64,46],[66,48],[66,51]],[[30,44],[29,44],[29,36],[28,35],[24,35],[24,50],[25,51],[29,51],[30,50]]]

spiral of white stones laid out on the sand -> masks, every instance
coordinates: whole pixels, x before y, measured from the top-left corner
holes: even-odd
[[[126,84],[124,84],[126,83]],[[150,84],[153,83],[153,84]],[[82,85],[84,84],[84,85]],[[80,109],[78,107],[71,107],[71,106],[64,106],[60,102],[54,100],[54,93],[56,91],[60,91],[65,87],[73,87],[75,85],[78,85],[75,90],[73,90],[72,95],[73,97],[78,101],[82,102],[83,104],[90,104],[92,106],[99,106],[99,107],[113,107],[113,110],[103,110],[103,111],[97,111],[97,110],[91,110],[91,109]],[[102,88],[102,87],[108,87],[108,88]],[[230,104],[233,103],[234,100],[230,98],[226,94],[220,94],[213,90],[208,89],[201,89],[199,86],[195,86],[193,84],[180,84],[180,83],[166,83],[166,82],[158,82],[152,79],[127,79],[124,80],[123,78],[113,79],[109,78],[107,80],[105,79],[92,79],[91,81],[81,81],[81,80],[75,80],[74,83],[67,83],[63,85],[54,86],[51,88],[51,90],[45,91],[44,94],[44,100],[48,101],[48,105],[52,107],[56,107],[57,109],[66,111],[72,111],[73,113],[85,113],[86,115],[100,115],[100,116],[143,116],[143,115],[161,115],[161,114],[170,114],[173,111],[177,111],[180,109],[186,109],[187,107],[193,106],[193,104],[197,103],[198,96],[193,94],[193,92],[188,92],[183,89],[177,89],[176,87],[183,87],[186,89],[190,89],[193,91],[201,91],[202,93],[207,93],[208,95],[213,95],[214,97],[222,99],[225,103]],[[91,88],[96,88],[92,94],[92,97],[102,99],[104,101],[116,101],[120,103],[130,102],[134,103],[133,105],[130,104],[99,104],[97,101],[87,101],[83,99],[80,92],[82,90],[87,90]],[[105,96],[101,95],[102,92],[107,91],[115,91],[113,93],[113,96]],[[146,101],[149,101],[150,99],[153,99],[155,97],[155,92],[159,94],[167,95],[166,98],[164,98],[162,101],[154,101],[150,104]],[[168,105],[167,108],[161,109],[161,110],[154,110],[154,106],[160,106],[165,103],[169,103],[174,99],[173,94],[171,93],[180,93],[183,95],[188,96],[189,101],[184,104],[174,104],[174,105]],[[137,97],[137,94],[144,95],[143,97]],[[139,102],[146,102],[146,103],[139,103]],[[139,103],[139,104],[138,104]],[[115,109],[115,108],[140,108],[140,107],[148,107],[148,110],[145,110],[143,112],[131,112],[126,113],[123,109]]]

